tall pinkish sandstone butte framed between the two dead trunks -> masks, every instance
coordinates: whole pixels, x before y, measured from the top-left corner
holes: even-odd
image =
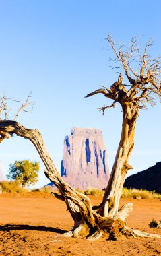
[[[72,187],[83,190],[106,187],[108,160],[100,129],[71,129],[64,141],[61,176]]]

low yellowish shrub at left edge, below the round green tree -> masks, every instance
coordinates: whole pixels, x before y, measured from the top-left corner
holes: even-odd
[[[25,193],[28,192],[27,189],[22,189],[20,187],[20,183],[18,181],[1,181],[0,182],[2,192],[17,192],[17,193]]]

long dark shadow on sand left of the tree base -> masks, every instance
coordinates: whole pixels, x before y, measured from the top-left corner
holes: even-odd
[[[5,224],[0,225],[0,231],[10,231],[10,230],[36,230],[36,231],[46,231],[55,232],[57,234],[64,234],[67,230],[61,230],[59,228],[51,228],[49,226],[32,226],[32,225],[22,225],[22,224]]]

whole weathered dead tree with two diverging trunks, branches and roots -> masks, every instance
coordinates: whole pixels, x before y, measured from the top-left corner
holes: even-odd
[[[105,236],[110,239],[116,239],[121,233],[133,237],[144,236],[161,238],[159,235],[133,230],[127,226],[125,218],[132,210],[132,203],[127,203],[119,209],[119,200],[125,181],[125,175],[127,171],[132,168],[129,164],[129,156],[134,146],[135,124],[139,110],[145,109],[146,104],[153,106],[155,104],[155,96],[161,98],[160,58],[152,59],[147,54],[148,48],[152,45],[152,41],[146,44],[143,53],[141,53],[141,45],[136,38],[131,40],[128,48],[125,48],[122,44],[117,48],[111,36],[108,36],[107,40],[115,54],[114,61],[119,63],[119,66],[115,65],[112,66],[112,68],[123,69],[128,84],[123,83],[124,74],[119,73],[119,78],[110,88],[102,86],[102,88],[86,96],[104,94],[106,98],[113,100],[110,106],[100,108],[103,113],[107,108],[115,107],[117,103],[121,104],[123,110],[121,139],[110,174],[110,180],[100,205],[92,207],[90,199],[86,195],[79,193],[63,181],[37,129],[27,129],[16,121],[6,120],[6,118],[5,120],[1,119],[0,140],[3,141],[3,139],[16,134],[29,139],[34,144],[46,167],[44,170],[46,177],[48,177],[60,191],[60,194],[55,194],[55,197],[65,201],[67,209],[74,220],[74,226],[65,234],[66,236],[88,239],[96,239],[100,238],[100,236]],[[136,60],[139,66],[139,69],[136,71],[133,68],[133,59]],[[1,98],[0,114],[7,113],[6,104],[5,108],[3,107],[5,100],[6,99],[3,97]],[[27,105],[28,100],[26,101],[26,106]],[[24,107],[22,103],[21,110],[24,110]],[[18,115],[19,114],[20,112],[18,110]],[[18,115],[16,115],[16,117]]]

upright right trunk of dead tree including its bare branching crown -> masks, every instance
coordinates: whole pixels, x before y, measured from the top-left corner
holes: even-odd
[[[102,203],[98,207],[93,207],[93,210],[97,210],[97,214],[103,218],[112,218],[112,220],[121,219],[125,221],[125,218],[132,210],[132,205],[124,205],[119,210],[119,201],[123,183],[125,181],[125,175],[127,174],[127,171],[132,168],[129,164],[129,157],[134,146],[135,125],[139,110],[143,108],[145,109],[146,104],[154,106],[154,96],[161,98],[161,66],[158,59],[150,59],[146,53],[148,47],[152,45],[152,42],[146,44],[143,55],[141,55],[140,46],[137,44],[136,38],[132,38],[129,47],[126,48],[123,44],[120,44],[118,49],[116,48],[112,36],[109,35],[106,39],[115,55],[113,60],[115,61],[116,66],[112,66],[112,68],[123,69],[123,73],[125,73],[129,84],[123,84],[123,75],[120,73],[117,82],[114,82],[110,88],[102,86],[102,88],[95,90],[86,96],[90,97],[96,94],[103,94],[106,98],[113,100],[113,103],[110,106],[99,108],[103,115],[104,110],[115,107],[117,103],[121,104],[123,110],[121,139],[110,174],[110,180],[108,181]],[[137,56],[136,59],[135,56]],[[131,58],[133,58],[134,62],[136,61],[139,63],[137,71],[133,70]],[[143,236],[148,237],[147,234],[132,230],[126,225],[124,225],[124,231],[125,230],[133,236],[141,236],[142,234]],[[122,230],[121,232],[124,231]]]

